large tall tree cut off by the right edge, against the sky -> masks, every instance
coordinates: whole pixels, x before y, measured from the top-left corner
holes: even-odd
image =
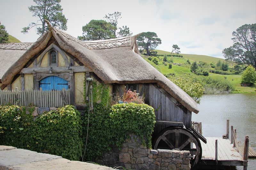
[[[256,24],[245,24],[232,33],[234,44],[223,49],[226,60],[252,65],[256,69]]]

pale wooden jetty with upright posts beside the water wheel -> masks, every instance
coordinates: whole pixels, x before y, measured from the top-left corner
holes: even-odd
[[[248,158],[255,158],[256,153],[249,147],[249,137],[245,136],[244,144],[237,142],[236,129],[231,126],[231,139],[229,140],[229,120],[227,120],[227,134],[223,137],[205,137],[207,144],[201,142],[202,159],[199,168],[220,166],[244,166],[247,170]]]

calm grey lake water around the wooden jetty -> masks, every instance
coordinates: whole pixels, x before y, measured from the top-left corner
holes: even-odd
[[[202,122],[204,137],[222,137],[229,119],[229,125],[236,129],[238,141],[244,142],[248,135],[249,145],[256,151],[256,94],[204,95],[198,108],[200,112],[192,113],[192,121]],[[243,166],[236,168],[240,170]],[[256,159],[250,159],[248,170],[255,169]]]

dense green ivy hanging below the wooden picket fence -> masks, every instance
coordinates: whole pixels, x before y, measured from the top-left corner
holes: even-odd
[[[26,110],[30,112],[26,114]],[[79,160],[82,146],[80,112],[67,105],[33,121],[34,107],[0,106],[0,144]]]

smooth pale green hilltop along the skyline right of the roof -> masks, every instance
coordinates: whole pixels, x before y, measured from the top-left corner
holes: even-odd
[[[157,51],[157,54],[171,54],[171,52],[158,50],[158,49],[156,49],[155,51]],[[189,60],[193,60],[196,62],[203,61],[206,63],[211,63],[211,62],[217,63],[219,60],[221,62],[225,62],[225,60],[222,58],[212,57],[208,55],[182,54],[182,53],[180,53],[180,55],[183,55],[184,58],[187,58]]]

